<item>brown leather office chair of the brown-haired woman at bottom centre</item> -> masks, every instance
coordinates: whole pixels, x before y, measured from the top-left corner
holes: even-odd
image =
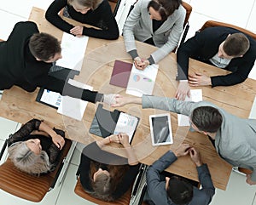
[[[104,202],[100,199],[96,199],[96,198],[90,196],[90,194],[85,192],[84,188],[80,182],[79,169],[76,174],[78,181],[75,186],[74,192],[77,195],[81,196],[82,198],[86,199],[87,201],[94,202],[98,205],[128,205],[128,204],[136,205],[135,200],[136,200],[136,196],[137,196],[137,191],[139,189],[139,186],[141,185],[141,180],[143,178],[143,174],[145,173],[145,171],[146,171],[146,165],[141,164],[139,172],[137,174],[137,178],[135,179],[133,185],[131,185],[130,189],[128,191],[126,191],[123,196],[121,196],[118,200],[116,200],[114,202]]]

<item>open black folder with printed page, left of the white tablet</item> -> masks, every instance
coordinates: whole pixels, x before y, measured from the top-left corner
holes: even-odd
[[[131,116],[122,111],[108,111],[100,104],[91,122],[89,132],[103,138],[110,134],[125,133],[129,136],[129,142],[131,143],[139,120],[139,117]]]

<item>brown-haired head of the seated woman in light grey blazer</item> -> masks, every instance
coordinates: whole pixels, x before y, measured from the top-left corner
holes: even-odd
[[[148,3],[150,19],[165,21],[180,4],[181,0],[151,0]]]

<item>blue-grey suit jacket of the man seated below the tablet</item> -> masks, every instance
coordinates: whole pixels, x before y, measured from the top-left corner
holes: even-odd
[[[159,160],[154,162],[147,171],[147,187],[148,196],[154,204],[158,205],[174,205],[175,203],[166,194],[166,180],[160,180],[160,174],[173,162],[177,160],[177,157],[172,151],[167,151],[165,155],[160,157]],[[212,196],[215,193],[215,188],[212,185],[211,175],[207,168],[207,164],[203,164],[197,167],[198,177],[202,185],[202,189],[199,190],[195,186],[193,187],[193,198],[189,205],[207,205],[212,201]]]

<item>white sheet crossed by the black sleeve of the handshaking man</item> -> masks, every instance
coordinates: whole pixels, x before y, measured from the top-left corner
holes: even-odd
[[[84,83],[79,83],[74,81],[73,79],[69,79],[68,83],[73,86],[92,90],[93,88]],[[62,96],[61,105],[58,108],[58,113],[65,115],[67,117],[72,117],[76,120],[81,121],[84,116],[84,111],[86,109],[88,102],[76,98],[72,98],[69,96]]]

